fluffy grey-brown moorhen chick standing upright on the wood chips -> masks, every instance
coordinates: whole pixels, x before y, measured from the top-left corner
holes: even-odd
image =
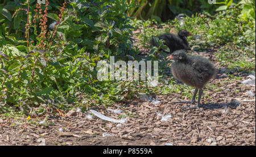
[[[209,82],[209,80],[216,74],[216,69],[214,68],[213,64],[210,63],[206,58],[188,55],[183,50],[175,51],[171,56],[168,56],[167,59],[174,60],[171,65],[172,75],[174,75],[177,80],[180,80],[188,86],[196,88],[192,100],[189,101],[190,104],[188,107],[190,107],[191,104],[195,102],[197,92],[199,91],[196,107],[191,107],[188,109],[197,108],[199,111],[203,112],[199,108],[200,99],[203,94],[203,88],[205,87],[205,84],[207,84],[207,82]],[[188,102],[181,101],[175,103]]]

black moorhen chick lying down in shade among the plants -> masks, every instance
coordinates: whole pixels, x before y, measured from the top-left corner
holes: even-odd
[[[181,29],[178,33],[178,36],[172,34],[172,33],[164,33],[163,35],[158,36],[159,40],[164,40],[164,45],[168,46],[170,49],[170,53],[174,52],[175,50],[185,49],[190,50],[188,46],[187,37],[191,36],[191,33],[189,33],[185,29]],[[157,46],[155,43],[154,37],[152,37],[150,41],[151,45]]]

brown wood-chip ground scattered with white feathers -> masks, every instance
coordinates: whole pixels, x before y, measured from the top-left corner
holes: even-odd
[[[211,58],[218,67],[212,53],[200,52],[199,55]],[[249,74],[237,75],[242,80],[230,83],[226,71],[222,70],[209,82],[218,87],[204,91],[211,96],[201,99],[205,113],[182,112],[181,107],[187,104],[171,103],[181,99],[182,94],[178,92],[157,95],[160,101],[157,105],[140,99],[114,104],[111,108],[121,108],[121,114],[95,109],[116,120],[122,114],[129,114],[124,124],[96,116],[89,119],[85,113],[75,111],[65,117],[49,116],[51,125],[31,125],[24,122],[24,117],[18,120],[0,117],[0,145],[255,145],[255,96],[245,94],[251,90],[255,95],[255,86],[241,84]],[[160,121],[159,113],[171,114],[171,117]],[[105,133],[111,136],[103,136]]]

